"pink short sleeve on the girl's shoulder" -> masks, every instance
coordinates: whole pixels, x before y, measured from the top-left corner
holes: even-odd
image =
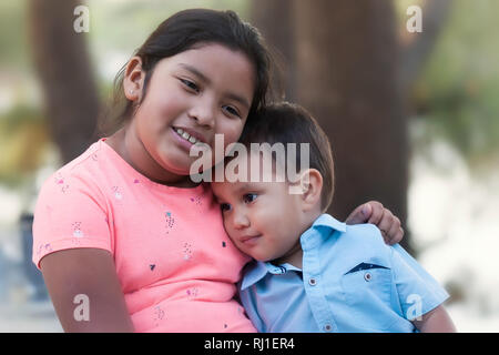
[[[106,203],[81,176],[57,172],[43,184],[34,210],[32,261],[62,250],[95,247],[113,253]]]

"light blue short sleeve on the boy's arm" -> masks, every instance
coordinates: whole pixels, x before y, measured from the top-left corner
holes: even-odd
[[[411,321],[444,303],[449,294],[400,245],[391,250],[391,265],[404,317]]]

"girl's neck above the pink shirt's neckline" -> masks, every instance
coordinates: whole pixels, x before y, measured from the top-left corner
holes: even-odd
[[[197,186],[189,175],[172,173],[157,164],[126,126],[116,131],[105,142],[133,169],[155,183],[174,187]]]

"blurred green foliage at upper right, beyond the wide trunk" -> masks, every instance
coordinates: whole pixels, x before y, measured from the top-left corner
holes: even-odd
[[[472,170],[499,161],[498,13],[496,0],[455,0],[414,92],[427,132],[448,140]]]

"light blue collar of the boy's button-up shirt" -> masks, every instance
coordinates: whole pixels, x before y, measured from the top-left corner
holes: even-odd
[[[340,232],[346,231],[346,224],[343,222],[337,221],[332,215],[324,213],[315,222],[312,224],[312,226],[305,231],[305,233],[302,235],[303,237],[312,237],[312,235],[315,235],[314,233],[316,230],[326,227],[328,230],[336,230]],[[312,233],[312,235],[310,235]],[[318,233],[320,234],[320,233]],[[327,233],[329,235],[330,233]],[[244,271],[244,277],[241,283],[241,290],[245,290],[247,287],[251,287],[252,285],[256,284],[258,281],[265,277],[267,273],[271,274],[284,274],[286,270],[296,270],[299,271],[299,268],[294,267],[293,265],[287,264],[286,268],[283,266],[276,266],[269,262],[257,262],[253,261],[248,265],[246,265],[246,268]]]

